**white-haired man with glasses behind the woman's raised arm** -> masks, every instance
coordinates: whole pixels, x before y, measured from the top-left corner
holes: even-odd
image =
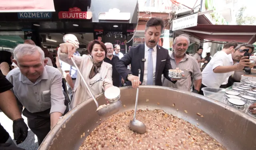
[[[79,41],[74,34],[65,34],[63,36],[63,41],[65,43],[74,44],[76,46],[76,49],[79,48]],[[78,51],[76,51],[74,53],[74,55],[80,56]],[[70,66],[69,64],[62,62],[61,60],[60,60],[60,65],[61,65],[61,69],[63,71],[63,76],[67,82],[66,85],[67,85],[67,90],[68,90],[68,97],[70,98],[70,102],[71,102],[71,100],[73,98],[74,85],[76,83],[77,70],[76,70],[76,67]]]

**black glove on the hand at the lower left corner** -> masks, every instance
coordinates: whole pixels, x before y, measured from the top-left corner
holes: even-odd
[[[14,134],[14,140],[16,140],[16,144],[24,142],[24,140],[28,136],[28,126],[24,122],[23,118],[19,118],[13,121],[12,130]]]

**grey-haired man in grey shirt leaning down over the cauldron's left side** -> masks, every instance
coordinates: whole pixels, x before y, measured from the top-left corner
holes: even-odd
[[[18,67],[6,78],[14,86],[12,91],[18,103],[24,106],[22,114],[40,145],[66,109],[62,75],[58,69],[46,65],[44,51],[35,45],[19,44],[14,49],[13,61]]]

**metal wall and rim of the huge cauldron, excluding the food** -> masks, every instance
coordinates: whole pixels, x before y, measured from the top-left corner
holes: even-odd
[[[121,88],[120,100],[126,107],[122,107],[118,113],[134,109],[135,98],[136,89]],[[96,99],[100,105],[106,102],[104,94],[98,94]],[[149,101],[146,102],[146,99]],[[138,109],[140,108],[162,109],[195,126],[198,123],[198,128],[210,134],[228,150],[256,150],[256,119],[216,100],[172,88],[140,86]],[[204,115],[204,118],[196,113]],[[100,121],[92,99],[82,102],[59,120],[39,150],[78,150],[88,136],[88,130],[91,132],[104,120],[102,118]],[[85,136],[81,138],[84,132]]]

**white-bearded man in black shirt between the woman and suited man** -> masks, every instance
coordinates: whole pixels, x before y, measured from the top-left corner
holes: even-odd
[[[118,56],[113,55],[113,52],[114,52],[113,44],[105,43],[105,45],[107,48],[107,54],[106,54],[106,57],[104,58],[104,62],[107,62],[112,65],[113,86],[120,87],[120,75],[115,68],[115,64],[119,60],[119,58]]]

